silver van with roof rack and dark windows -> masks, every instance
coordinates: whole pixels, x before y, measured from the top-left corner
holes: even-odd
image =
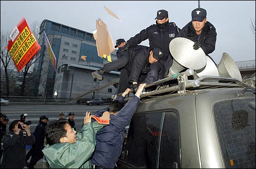
[[[255,77],[160,83],[125,127],[117,168],[255,168]]]

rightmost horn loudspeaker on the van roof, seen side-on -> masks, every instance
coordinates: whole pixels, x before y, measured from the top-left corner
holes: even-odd
[[[237,78],[242,81],[242,76],[237,64],[234,63],[233,59],[227,53],[224,52],[222,54],[221,61],[217,67],[220,76]]]

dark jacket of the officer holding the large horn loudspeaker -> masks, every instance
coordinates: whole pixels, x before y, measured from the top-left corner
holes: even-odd
[[[207,21],[201,35],[198,37],[192,22],[189,22],[182,28],[177,37],[187,38],[193,42],[199,41],[204,53],[208,55],[215,50],[217,33],[214,25]]]

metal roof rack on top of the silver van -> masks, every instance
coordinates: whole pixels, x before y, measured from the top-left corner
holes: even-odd
[[[202,76],[197,79],[189,79],[193,77],[195,71],[187,69],[185,72],[177,73],[174,76],[166,77],[161,80],[155,81],[145,86],[145,92],[142,92],[141,98],[148,96],[155,96],[163,93],[177,92],[178,94],[185,94],[189,90],[200,90],[206,88],[232,88],[232,87],[250,87],[248,82],[245,83],[236,78],[219,77],[219,76]],[[254,81],[255,82],[255,81]],[[148,87],[156,86],[156,90],[147,91]],[[120,93],[122,94],[122,93]],[[113,95],[115,99],[120,94]],[[126,98],[129,99],[129,98]],[[125,99],[125,100],[126,100]]]

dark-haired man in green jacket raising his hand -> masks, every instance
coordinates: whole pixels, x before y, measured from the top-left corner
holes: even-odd
[[[95,135],[104,126],[92,123],[91,118],[87,111],[77,134],[67,121],[53,121],[46,127],[48,145],[42,152],[50,168],[91,168]]]

